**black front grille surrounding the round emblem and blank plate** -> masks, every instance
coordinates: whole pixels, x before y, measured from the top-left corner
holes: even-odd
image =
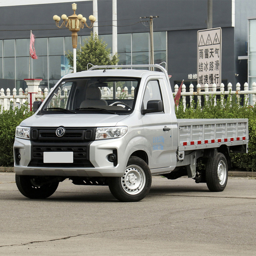
[[[89,160],[89,145],[95,138],[96,128],[65,128],[62,137],[58,127],[34,127],[31,130],[31,161],[34,167],[94,167]],[[73,163],[44,163],[44,152],[73,152]]]

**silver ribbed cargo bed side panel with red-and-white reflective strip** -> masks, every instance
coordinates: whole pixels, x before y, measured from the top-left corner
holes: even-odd
[[[179,151],[248,144],[248,119],[177,119]]]

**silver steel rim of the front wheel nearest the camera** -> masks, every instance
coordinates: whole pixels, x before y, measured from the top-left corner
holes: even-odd
[[[138,165],[129,165],[121,178],[121,185],[129,195],[137,195],[145,187],[146,175]]]

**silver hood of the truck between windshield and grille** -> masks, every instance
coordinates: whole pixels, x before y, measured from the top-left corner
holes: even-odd
[[[33,115],[23,120],[20,125],[28,127],[103,127],[116,126],[128,115],[109,114],[51,114]]]

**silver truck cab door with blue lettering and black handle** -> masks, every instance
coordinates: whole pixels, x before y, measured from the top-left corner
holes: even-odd
[[[157,79],[147,81],[141,102],[141,109],[147,108],[149,100],[161,100],[163,102],[163,111],[142,114],[145,147],[149,151],[150,169],[171,167],[176,163],[177,148],[175,148],[176,145],[173,145],[172,119],[170,111],[168,111],[169,107],[167,107],[168,102],[165,102],[168,97],[163,94],[164,90],[161,90],[160,84]],[[154,170],[151,171],[154,173]]]

